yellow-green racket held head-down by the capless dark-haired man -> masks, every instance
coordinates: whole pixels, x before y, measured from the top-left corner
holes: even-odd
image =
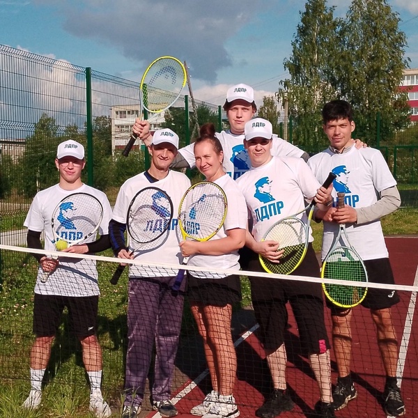
[[[337,193],[337,207],[344,207],[344,193]],[[366,283],[367,271],[362,258],[348,240],[346,225],[340,224],[334,243],[328,251],[321,268],[325,279],[353,280]],[[325,284],[323,289],[327,298],[338,307],[352,308],[366,297],[367,288]]]

